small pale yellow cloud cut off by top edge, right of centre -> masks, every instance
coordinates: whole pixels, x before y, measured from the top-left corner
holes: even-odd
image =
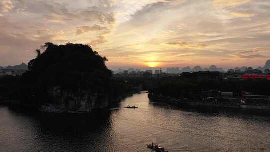
[[[251,2],[252,0],[214,0],[213,6],[216,8],[236,7]]]

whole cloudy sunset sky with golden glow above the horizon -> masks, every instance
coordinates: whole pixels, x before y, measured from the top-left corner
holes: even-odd
[[[0,0],[0,65],[71,42],[109,68],[263,66],[269,16],[270,0]]]

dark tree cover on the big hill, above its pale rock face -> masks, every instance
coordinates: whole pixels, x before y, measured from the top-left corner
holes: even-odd
[[[73,91],[78,88],[107,91],[111,77],[111,71],[105,65],[107,59],[90,46],[46,43],[42,48],[44,52],[36,50],[37,57],[28,63],[29,70],[22,76],[24,82]]]

